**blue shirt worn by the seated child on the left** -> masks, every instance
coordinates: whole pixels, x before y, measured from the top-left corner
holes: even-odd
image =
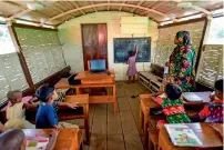
[[[48,129],[58,126],[59,120],[53,104],[45,104],[44,102],[40,103],[38,112],[35,116],[35,128],[37,129]]]

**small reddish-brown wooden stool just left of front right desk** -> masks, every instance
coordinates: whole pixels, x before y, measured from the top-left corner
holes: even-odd
[[[149,131],[147,150],[157,150],[157,144],[159,144],[159,130],[157,129],[151,129]]]

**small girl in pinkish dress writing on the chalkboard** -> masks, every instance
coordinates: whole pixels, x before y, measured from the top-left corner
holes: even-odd
[[[129,52],[129,60],[128,60],[129,68],[128,68],[128,72],[126,72],[126,74],[129,76],[128,83],[134,82],[135,74],[136,74],[135,61],[136,61],[136,56],[138,56],[138,46],[135,46],[134,49],[135,49],[134,51]]]

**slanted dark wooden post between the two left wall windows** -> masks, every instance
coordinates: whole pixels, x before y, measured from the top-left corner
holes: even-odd
[[[32,77],[31,77],[30,71],[29,71],[29,68],[28,68],[28,66],[27,66],[24,56],[23,56],[23,53],[22,53],[22,51],[21,51],[20,43],[19,43],[18,37],[17,37],[17,33],[16,33],[16,31],[14,31],[14,28],[11,27],[11,26],[8,26],[8,30],[9,30],[9,33],[10,33],[10,36],[11,36],[12,42],[13,42],[13,44],[14,44],[17,54],[18,54],[18,57],[19,57],[20,64],[21,64],[21,67],[22,67],[22,70],[23,70],[26,80],[27,80],[27,82],[28,82],[28,84],[29,84],[31,91],[34,92],[34,84],[33,84],[33,81],[32,81]]]

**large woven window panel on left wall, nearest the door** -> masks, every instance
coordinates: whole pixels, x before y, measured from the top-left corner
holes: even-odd
[[[38,83],[65,67],[58,32],[16,27],[33,83]]]

